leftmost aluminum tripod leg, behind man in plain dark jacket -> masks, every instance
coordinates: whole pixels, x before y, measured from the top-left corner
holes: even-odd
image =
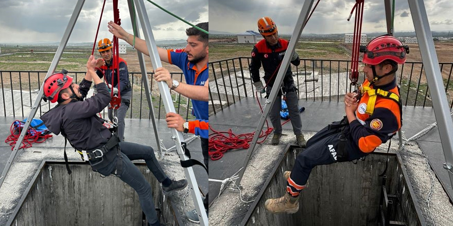
[[[63,37],[61,38],[60,45],[57,48],[57,52],[55,53],[54,59],[52,60],[52,63],[50,64],[49,69],[47,70],[46,74],[46,79],[54,73],[55,68],[58,65],[58,62],[61,59],[61,55],[63,54],[63,50],[66,47],[67,41],[69,40],[69,36],[71,36],[71,33],[73,31],[74,25],[77,22],[77,17],[79,17],[80,11],[82,10],[83,4],[85,3],[85,0],[79,0],[76,4],[76,8],[74,9],[73,15],[69,19],[69,23],[67,24],[66,30],[63,33]],[[44,79],[45,81],[45,79]],[[30,122],[33,119],[33,117],[36,115],[36,112],[38,110],[39,105],[41,104],[41,98],[43,96],[43,87],[44,87],[44,81],[41,84],[41,88],[39,89],[38,96],[36,98],[36,101],[34,101],[33,106],[31,107],[31,111],[28,114],[27,117],[27,122],[25,123],[24,128],[22,129],[21,135],[18,139],[18,142],[16,142],[16,145],[14,146],[13,152],[11,153],[11,156],[8,159],[8,162],[6,163],[5,170],[3,170],[2,176],[0,177],[0,187],[3,184],[3,181],[5,180],[6,174],[9,171],[9,168],[11,167],[12,162],[14,161],[16,155],[18,154],[19,147],[22,144],[22,141],[24,140],[24,136],[27,133],[28,127],[30,126]]]

